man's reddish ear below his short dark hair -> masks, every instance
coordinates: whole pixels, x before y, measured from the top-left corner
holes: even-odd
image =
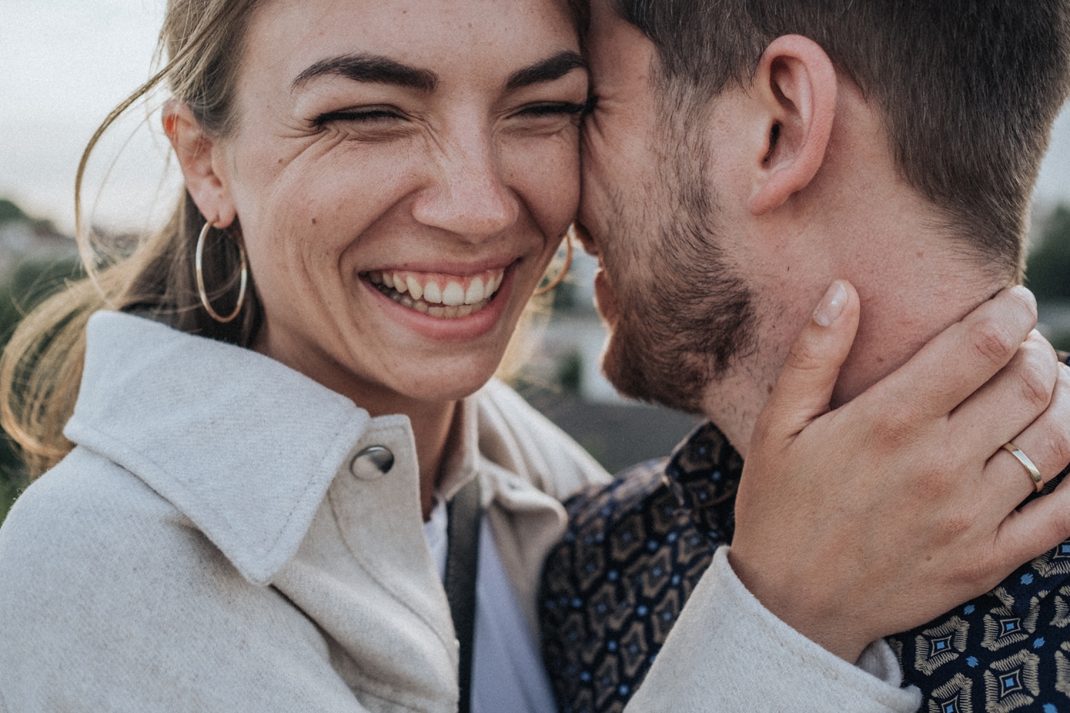
[[[762,215],[805,188],[821,168],[836,117],[836,68],[821,46],[785,34],[766,47],[751,98],[767,124],[747,207]]]

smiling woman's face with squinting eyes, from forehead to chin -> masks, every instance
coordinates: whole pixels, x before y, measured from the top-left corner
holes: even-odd
[[[575,215],[586,95],[559,0],[265,2],[212,161],[258,351],[370,403],[478,389]]]

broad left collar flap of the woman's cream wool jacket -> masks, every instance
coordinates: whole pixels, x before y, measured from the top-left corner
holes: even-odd
[[[411,441],[407,417],[371,419],[250,350],[97,312],[64,434],[144,481],[263,585],[369,425],[402,428]]]

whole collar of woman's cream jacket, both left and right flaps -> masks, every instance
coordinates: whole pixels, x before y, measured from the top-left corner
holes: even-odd
[[[552,495],[582,485],[581,474],[597,480],[603,471],[526,412],[493,381],[459,402],[460,439],[440,492],[448,498],[477,472],[486,476],[484,507],[493,500],[538,526],[538,537],[517,549],[524,572],[537,576],[537,564],[526,563],[541,561],[546,541],[564,529]],[[331,483],[351,477],[365,447],[388,446],[398,455],[391,478],[418,487],[408,417],[371,418],[261,354],[121,312],[89,321],[81,389],[64,434],[142,480],[260,585],[296,553]],[[411,507],[418,516],[418,499],[384,507]]]

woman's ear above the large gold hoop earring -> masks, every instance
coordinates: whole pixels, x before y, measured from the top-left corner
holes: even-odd
[[[194,112],[181,102],[168,102],[163,120],[182,167],[186,189],[201,215],[216,228],[230,226],[238,210],[226,177],[217,170],[217,161],[223,160],[218,144],[204,134]]]

